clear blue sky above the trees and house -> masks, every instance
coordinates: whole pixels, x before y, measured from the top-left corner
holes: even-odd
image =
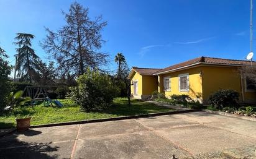
[[[0,46],[14,64],[17,32],[35,35],[33,48],[44,60],[39,46],[44,26],[56,30],[65,24],[61,11],[73,1],[0,1]],[[102,51],[111,59],[117,52],[129,66],[167,67],[199,56],[244,59],[249,53],[249,0],[84,0],[90,17],[103,15],[107,42]],[[255,22],[255,20],[254,20]],[[255,41],[254,41],[255,42]],[[256,43],[255,43],[256,44]],[[255,45],[254,45],[255,49]],[[115,69],[112,62],[109,69]]]

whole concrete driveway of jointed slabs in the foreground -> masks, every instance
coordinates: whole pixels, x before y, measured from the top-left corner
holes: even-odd
[[[30,129],[0,158],[256,158],[256,122],[204,112]]]

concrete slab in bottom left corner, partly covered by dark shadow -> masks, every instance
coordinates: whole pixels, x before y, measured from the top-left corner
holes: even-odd
[[[23,142],[21,147],[0,149],[1,159],[53,159],[70,158],[74,141],[57,143],[30,143]]]

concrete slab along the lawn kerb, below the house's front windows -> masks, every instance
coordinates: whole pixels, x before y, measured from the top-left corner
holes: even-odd
[[[151,129],[167,129],[173,127],[193,126],[199,124],[199,122],[194,122],[188,119],[181,119],[178,116],[172,115],[139,118],[135,119],[135,121],[140,122],[144,126],[147,126]]]

